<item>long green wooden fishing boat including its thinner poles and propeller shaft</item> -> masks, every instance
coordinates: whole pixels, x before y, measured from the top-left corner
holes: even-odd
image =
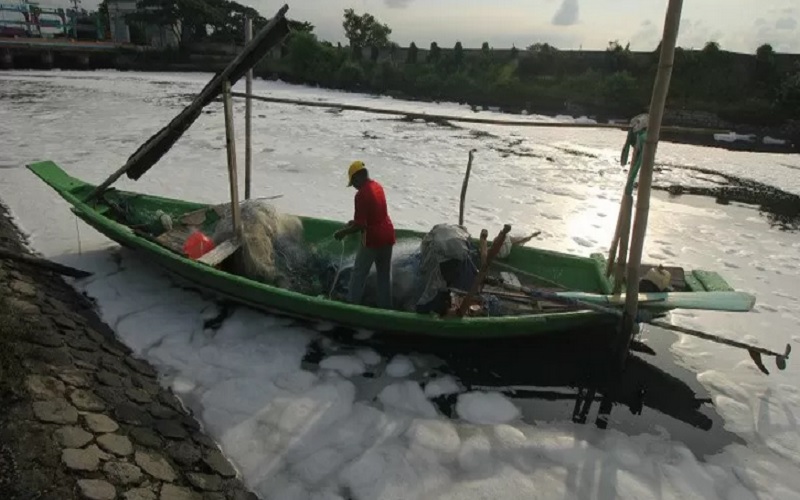
[[[671,291],[638,293],[636,300],[629,301],[631,304],[638,304],[637,308],[628,309],[638,311],[636,317],[631,318],[623,316],[621,312],[626,297],[622,294],[611,294],[612,290],[617,287],[615,287],[615,278],[607,277],[607,274],[610,273],[606,271],[610,271],[611,266],[604,255],[593,254],[589,257],[580,257],[516,246],[501,262],[494,261],[492,257],[499,248],[502,237],[510,230],[509,226],[503,228],[503,232],[499,235],[500,239],[496,240],[497,245],[493,245],[489,252],[486,262],[491,262],[491,268],[485,269],[483,265],[481,266],[478,278],[474,280],[469,292],[455,291],[455,293],[465,293],[467,299],[462,302],[458,308],[458,315],[455,317],[440,317],[348,304],[326,298],[324,294],[300,293],[294,289],[290,290],[249,279],[242,273],[232,272],[234,269],[230,263],[235,259],[227,258],[237,255],[236,252],[240,248],[239,244],[233,240],[219,242],[216,248],[201,255],[197,260],[185,255],[182,244],[186,238],[195,230],[201,230],[208,234],[221,220],[220,217],[226,206],[231,210],[232,226],[236,228],[232,234],[242,234],[231,88],[269,50],[276,47],[290,33],[289,22],[285,17],[288,8],[287,5],[283,5],[260,29],[259,33],[245,45],[234,60],[224,70],[217,73],[186,108],[142,144],[128,158],[125,165],[99,185],[94,186],[76,179],[51,161],[34,163],[28,168],[67,200],[72,205],[72,211],[78,217],[110,239],[145,255],[149,261],[159,264],[201,290],[210,291],[215,295],[267,312],[329,321],[343,326],[384,333],[422,334],[445,339],[483,340],[536,336],[576,330],[591,331],[617,325],[621,326],[620,335],[617,337],[623,340],[623,342],[617,342],[618,345],[615,349],[622,355],[620,361],[624,361],[625,354],[629,350],[627,347],[630,346],[635,334],[634,324],[648,322],[661,328],[746,349],[764,373],[769,372],[761,362],[762,355],[774,356],[778,368],[785,369],[791,351],[791,346],[788,344],[785,351],[780,353],[697,330],[653,321],[653,319],[677,308],[750,311],[755,304],[755,298],[750,294],[734,291],[719,274],[713,271],[686,271],[680,267],[667,268],[672,278],[669,283]],[[250,76],[248,76],[248,81],[249,78]],[[144,175],[201,115],[202,109],[220,95],[223,96],[225,106],[226,150],[231,194],[229,204],[214,206],[111,188],[111,185],[122,175],[127,175],[133,180]],[[249,92],[247,97],[250,98]],[[247,118],[250,116],[249,104],[247,109],[246,123],[249,124]],[[245,135],[246,138],[249,138],[247,132]],[[247,158],[249,158],[248,151],[246,146],[246,164],[248,163]],[[463,217],[464,194],[471,160],[472,151],[470,152],[470,163],[467,166],[467,175],[462,186],[459,220],[462,220],[461,217]],[[247,172],[248,167],[246,166],[245,198],[249,193]],[[645,190],[645,194],[649,197],[649,191]],[[622,217],[626,206],[632,205],[630,203],[621,204],[618,234],[615,235],[612,248],[620,241],[618,238],[623,234],[621,229],[626,226],[625,219]],[[164,215],[168,217],[164,217]],[[161,220],[160,229],[159,224],[153,223],[155,219]],[[332,220],[311,217],[299,217],[299,219],[302,226],[303,245],[310,247],[319,248],[328,245],[332,233],[342,226],[341,222]],[[166,227],[163,225],[163,220],[177,221],[177,225],[170,222],[167,225],[170,227]],[[143,221],[145,222],[143,223]],[[424,234],[418,231],[397,231],[398,241],[401,244],[404,241],[419,242],[423,236]],[[638,236],[637,245],[643,241],[643,234]],[[355,241],[346,242],[344,251],[353,252],[357,244]],[[624,247],[625,244],[620,244],[620,255],[623,255]],[[633,255],[633,252],[631,254]],[[241,256],[241,253],[238,255]],[[609,258],[613,258],[613,256],[616,256],[615,249],[610,253]],[[636,262],[640,260],[638,257]],[[481,254],[481,260],[483,261],[483,259],[483,254]],[[627,270],[631,273],[629,275],[638,282],[638,279],[635,278],[637,272],[645,275],[649,267],[652,266],[629,263]],[[618,266],[617,269],[619,271],[622,267]],[[78,270],[73,271],[80,274]],[[486,274],[487,272],[488,274]],[[496,276],[498,274],[500,275],[499,279]],[[618,275],[624,276],[621,272]],[[633,285],[628,288],[631,293],[636,291],[636,287]],[[483,314],[480,314],[480,306],[478,306],[478,314],[474,314],[475,311],[470,306],[471,299],[475,297],[472,295],[474,292],[494,297],[495,304],[500,301],[504,307],[497,309],[495,306],[493,309],[487,302],[484,304]],[[643,317],[640,314],[642,311],[645,311],[649,317]],[[467,313],[466,316],[464,313]],[[623,321],[620,321],[620,317]]]

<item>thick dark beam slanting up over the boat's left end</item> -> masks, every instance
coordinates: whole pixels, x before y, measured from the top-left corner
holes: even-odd
[[[119,170],[97,186],[84,201],[90,201],[108,189],[122,174],[137,180],[144,175],[167,151],[177,142],[184,132],[197,120],[203,108],[214,101],[222,92],[223,86],[231,87],[289,34],[289,23],[286,20],[288,5],[278,10],[273,18],[258,32],[256,37],[228,64],[206,84],[200,94],[164,128],[142,144]]]

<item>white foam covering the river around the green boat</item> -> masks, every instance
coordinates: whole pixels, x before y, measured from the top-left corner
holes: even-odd
[[[146,259],[77,222],[68,205],[22,166],[52,159],[68,173],[100,182],[186,104],[211,75],[0,72],[0,198],[32,246],[58,262],[94,272],[74,282],[134,352],[144,356],[194,411],[263,498],[796,498],[800,491],[800,391],[797,363],[761,374],[746,353],[681,336],[672,350],[711,393],[724,426],[745,444],[695,457],[657,430],[626,435],[572,423],[523,422],[499,393],[463,393],[456,377],[423,390],[410,359],[388,360],[374,379],[375,398],[354,381],[384,361],[372,350],[345,353],[320,332],[284,318],[235,308],[216,330],[213,302],[182,288]],[[243,83],[241,84],[243,85]],[[255,92],[330,102],[372,103],[403,110],[461,113],[454,104],[255,82]],[[172,95],[170,95],[172,94]],[[242,101],[235,104],[237,119]],[[225,201],[227,171],[221,105],[213,103],[153,169],[120,189],[201,202]],[[618,131],[468,126],[493,137],[427,124],[378,120],[368,113],[254,103],[253,196],[283,194],[279,209],[352,218],[353,191],[343,186],[355,156],[387,190],[398,227],[427,230],[457,217],[467,151],[477,148],[465,225],[493,236],[502,223],[520,234],[541,230],[529,245],[581,254],[607,252],[627,170],[618,165]],[[496,116],[500,114],[492,114]],[[515,117],[519,119],[519,117]],[[542,119],[530,116],[529,119]],[[69,121],[67,121],[69,120]],[[553,119],[547,119],[554,121]],[[75,126],[80,124],[80,126]],[[365,140],[369,130],[377,139]],[[244,127],[237,127],[243,144]],[[31,137],[43,138],[36,144]],[[501,156],[492,147],[523,140],[532,156]],[[569,150],[569,151],[568,151]],[[573,152],[570,152],[573,151]],[[553,161],[548,161],[547,156]],[[800,160],[661,143],[658,161],[694,165],[800,193]],[[554,169],[556,166],[569,168]],[[487,168],[491,165],[491,168]],[[708,176],[706,176],[708,177]],[[680,170],[656,182],[705,185]],[[314,193],[313,200],[306,193]],[[300,194],[300,195],[298,195]],[[520,205],[517,200],[531,200]],[[535,200],[535,201],[534,201]],[[482,210],[477,207],[483,207]],[[527,207],[527,208],[526,208]],[[77,225],[77,230],[76,230]],[[78,249],[80,248],[80,253]],[[654,195],[645,255],[667,264],[721,270],[737,289],[758,297],[757,312],[681,311],[670,321],[783,350],[800,343],[797,235],[770,227],[756,209],[695,197]],[[780,291],[780,293],[773,293]],[[362,340],[374,332],[362,331]],[[304,357],[314,342],[329,357],[319,368]],[[391,369],[389,368],[391,366]],[[407,379],[406,377],[410,377]],[[351,380],[352,379],[352,380]],[[458,394],[448,418],[434,405]],[[643,415],[641,418],[647,418]],[[613,419],[612,419],[613,420]]]

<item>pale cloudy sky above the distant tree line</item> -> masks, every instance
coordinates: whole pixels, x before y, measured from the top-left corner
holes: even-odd
[[[62,0],[63,1],[63,0]],[[84,8],[89,8],[84,0]],[[313,23],[319,38],[346,42],[344,9],[369,12],[392,28],[400,45],[435,41],[452,46],[604,49],[611,40],[631,50],[653,50],[661,38],[667,0],[238,0],[270,17],[284,3],[288,17]],[[46,3],[46,2],[42,2]],[[754,53],[763,43],[800,53],[800,0],[685,0],[678,45]]]

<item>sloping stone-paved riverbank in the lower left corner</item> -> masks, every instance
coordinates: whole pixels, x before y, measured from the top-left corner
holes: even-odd
[[[28,254],[2,204],[0,248]],[[257,498],[89,299],[3,258],[0,407],[4,500]]]

